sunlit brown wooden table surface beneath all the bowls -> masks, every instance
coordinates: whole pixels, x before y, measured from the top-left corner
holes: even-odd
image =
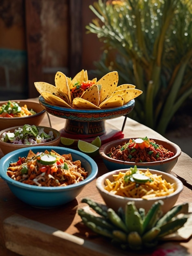
[[[34,99],[35,101],[37,99]],[[65,119],[49,115],[51,125],[57,130],[64,128]],[[105,121],[105,126],[121,130],[124,117],[118,117]],[[42,126],[49,126],[48,117],[41,122]],[[163,138],[160,134],[127,118],[123,130],[124,137],[151,137]],[[165,138],[163,138],[165,139]],[[0,157],[2,157],[0,151]],[[98,164],[98,176],[107,172],[100,156],[96,157]],[[172,170],[173,175],[179,175],[187,183],[192,185],[192,158],[181,153],[181,156]],[[97,192],[95,180],[87,184],[78,197],[72,202],[53,209],[33,208],[18,200],[9,190],[7,184],[0,180],[0,256],[123,256],[127,253],[113,247],[110,242],[89,232],[81,224],[80,217],[76,213],[80,207],[82,198],[90,197],[97,202],[103,202]],[[192,203],[192,190],[187,186],[179,196],[178,202]],[[189,241],[163,243],[159,247],[174,246],[183,249],[182,255],[192,254],[192,239]],[[152,251],[130,252],[130,256],[150,256]]]

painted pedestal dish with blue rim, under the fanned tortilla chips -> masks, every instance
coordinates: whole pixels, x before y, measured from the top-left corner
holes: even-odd
[[[105,120],[128,115],[134,108],[135,100],[118,108],[108,109],[75,109],[54,106],[40,96],[39,102],[47,112],[56,117],[66,119],[65,127],[60,131],[61,136],[72,139],[94,139],[100,136],[105,139],[108,131],[105,128]]]

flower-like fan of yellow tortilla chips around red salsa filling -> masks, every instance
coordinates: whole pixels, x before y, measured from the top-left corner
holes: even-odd
[[[54,106],[76,109],[106,109],[127,104],[143,92],[132,84],[118,85],[118,72],[112,71],[101,79],[88,79],[87,70],[81,70],[73,79],[62,72],[55,75],[55,85],[34,83],[45,101]]]

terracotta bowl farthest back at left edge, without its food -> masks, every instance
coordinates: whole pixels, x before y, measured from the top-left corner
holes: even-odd
[[[12,118],[0,117],[1,130],[9,127],[13,127],[13,126],[18,126],[18,124],[20,126],[24,124],[30,124],[30,125],[34,124],[35,126],[37,126],[40,124],[40,122],[42,121],[46,113],[46,110],[42,108],[40,103],[35,101],[24,101],[24,100],[20,100],[20,101],[13,100],[13,101],[17,102],[19,106],[24,106],[26,104],[27,108],[29,110],[33,109],[36,112],[36,114],[28,117],[12,117]],[[1,102],[0,106],[2,106],[5,103],[7,103],[7,101]]]

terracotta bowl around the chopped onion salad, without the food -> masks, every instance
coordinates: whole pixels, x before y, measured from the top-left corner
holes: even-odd
[[[19,127],[22,128],[22,126],[15,126],[11,128],[4,129],[0,131],[0,138],[2,137],[2,134],[4,132],[14,132],[15,129],[18,129]],[[53,132],[54,139],[52,141],[48,141],[45,143],[40,143],[40,144],[32,144],[32,145],[22,145],[22,144],[11,144],[8,142],[4,142],[0,139],[0,148],[3,152],[4,155],[6,155],[9,152],[12,152],[13,150],[17,150],[20,148],[29,148],[29,147],[37,147],[37,146],[58,146],[60,143],[60,132],[53,128],[49,127],[44,127],[44,126],[36,126],[37,128],[44,128],[46,133],[49,133],[49,131]]]

